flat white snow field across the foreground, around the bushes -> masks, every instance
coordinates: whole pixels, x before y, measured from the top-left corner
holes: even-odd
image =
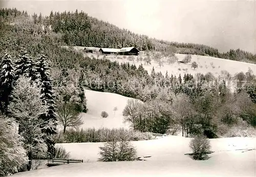
[[[146,161],[96,162],[102,143],[62,144],[71,158],[84,163],[65,164],[14,174],[14,176],[255,176],[255,138],[211,139],[210,159],[194,161],[189,156],[190,139],[169,136],[157,140],[132,142],[138,156]],[[243,149],[243,150],[241,150]],[[247,150],[246,150],[247,149]],[[143,158],[142,158],[143,159]]]

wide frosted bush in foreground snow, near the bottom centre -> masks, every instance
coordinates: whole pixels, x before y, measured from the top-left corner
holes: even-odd
[[[127,141],[127,136],[123,134],[121,141],[117,141],[117,137],[112,132],[112,141],[106,142],[103,147],[100,148],[100,158],[98,161],[102,162],[115,162],[115,161],[134,161],[137,158],[137,151]]]

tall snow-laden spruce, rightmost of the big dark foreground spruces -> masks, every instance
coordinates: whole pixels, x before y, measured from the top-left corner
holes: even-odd
[[[52,79],[50,78],[50,69],[51,68],[49,67],[47,57],[45,55],[39,55],[36,62],[37,78],[39,79],[39,83],[41,85],[42,102],[48,107],[47,114],[42,114],[40,119],[43,121],[51,120],[54,123],[54,126],[51,128],[43,130],[43,133],[47,135],[44,137],[44,140],[48,146],[48,153],[50,156],[53,156],[55,143],[50,136],[56,134],[57,118],[55,115],[55,97],[53,93]]]

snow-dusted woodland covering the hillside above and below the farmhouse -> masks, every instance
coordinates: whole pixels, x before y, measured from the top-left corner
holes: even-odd
[[[184,137],[219,138],[236,136],[238,129],[255,131],[252,71],[234,76],[246,84],[231,93],[226,86],[232,79],[228,72],[220,78],[211,73],[168,75],[154,69],[148,73],[143,64],[84,57],[60,46],[134,46],[147,52],[165,52],[172,46],[180,54],[251,63],[256,62],[254,54],[239,49],[220,53],[204,45],[157,40],[78,11],[42,16],[1,9],[0,19],[0,142],[4,142],[0,176],[30,170],[32,159],[56,157],[56,125],[69,134],[67,127],[82,124],[78,115],[88,111],[86,90],[140,100],[127,102],[123,110],[124,121],[140,132],[175,135],[180,127]]]

